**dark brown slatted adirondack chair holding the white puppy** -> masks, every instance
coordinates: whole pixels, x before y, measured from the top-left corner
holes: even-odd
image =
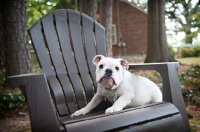
[[[106,55],[105,30],[92,18],[73,10],[56,10],[30,29],[40,73],[9,77],[25,88],[32,131],[190,131],[177,76],[179,63],[130,65],[134,70],[157,70],[163,79],[164,102],[104,114],[103,101],[91,113],[70,119],[93,97],[95,55]]]

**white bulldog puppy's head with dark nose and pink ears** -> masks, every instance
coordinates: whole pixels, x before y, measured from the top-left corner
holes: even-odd
[[[93,59],[96,66],[96,81],[106,89],[116,89],[122,82],[124,70],[128,63],[123,59],[114,59],[96,55]]]

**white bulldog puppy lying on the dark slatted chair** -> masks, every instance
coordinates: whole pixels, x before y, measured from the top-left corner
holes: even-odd
[[[96,55],[93,64],[96,66],[97,92],[92,100],[73,113],[71,118],[90,112],[105,97],[113,102],[105,113],[162,101],[158,86],[147,78],[130,73],[125,60]]]

